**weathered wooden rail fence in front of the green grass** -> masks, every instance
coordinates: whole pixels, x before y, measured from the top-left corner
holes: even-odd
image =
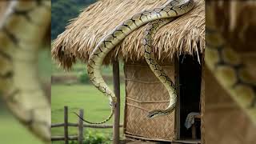
[[[79,116],[83,118],[84,111],[79,110]],[[84,128],[98,128],[98,129],[107,129],[107,128],[113,128],[112,125],[87,125],[84,124],[82,119],[78,118],[78,123],[70,123],[68,122],[68,107],[64,106],[64,123],[55,123],[52,124],[51,127],[64,127],[64,136],[52,136],[51,141],[65,141],[65,144],[69,143],[69,140],[77,140],[79,144],[82,144],[83,141],[83,132]],[[78,134],[77,135],[69,135],[68,127],[78,127]],[[122,127],[122,125],[119,125],[119,127]],[[114,136],[114,138],[118,138],[118,136]]]

